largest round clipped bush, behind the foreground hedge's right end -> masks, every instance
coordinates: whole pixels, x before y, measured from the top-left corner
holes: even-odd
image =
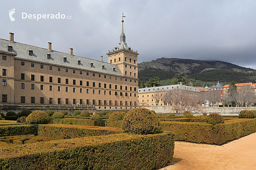
[[[134,108],[125,114],[122,128],[136,134],[154,134],[161,131],[160,120],[146,108]]]

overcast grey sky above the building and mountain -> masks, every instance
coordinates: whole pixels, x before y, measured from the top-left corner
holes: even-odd
[[[22,16],[58,12],[72,17]],[[122,12],[126,42],[140,54],[138,62],[221,60],[256,69],[256,0],[5,0],[0,38],[9,40],[13,32],[16,42],[42,48],[52,42],[55,51],[73,48],[75,55],[97,60],[103,55],[108,62],[106,53],[119,43]]]

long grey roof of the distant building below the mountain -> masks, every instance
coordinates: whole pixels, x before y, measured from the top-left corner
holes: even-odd
[[[158,86],[158,87],[150,87],[150,88],[139,88],[138,93],[150,93],[156,91],[169,91],[169,90],[189,90],[189,91],[197,91],[200,92],[197,88],[188,86],[188,85],[165,85],[165,86]]]

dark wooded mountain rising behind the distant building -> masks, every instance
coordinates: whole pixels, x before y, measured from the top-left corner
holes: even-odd
[[[161,80],[172,79],[176,73],[184,71],[192,82],[256,83],[256,70],[223,61],[163,57],[139,63],[138,71],[141,82],[153,77],[159,77]]]

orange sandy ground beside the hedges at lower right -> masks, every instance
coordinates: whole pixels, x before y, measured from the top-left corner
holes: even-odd
[[[256,133],[222,146],[175,142],[173,157],[161,170],[256,170]]]

